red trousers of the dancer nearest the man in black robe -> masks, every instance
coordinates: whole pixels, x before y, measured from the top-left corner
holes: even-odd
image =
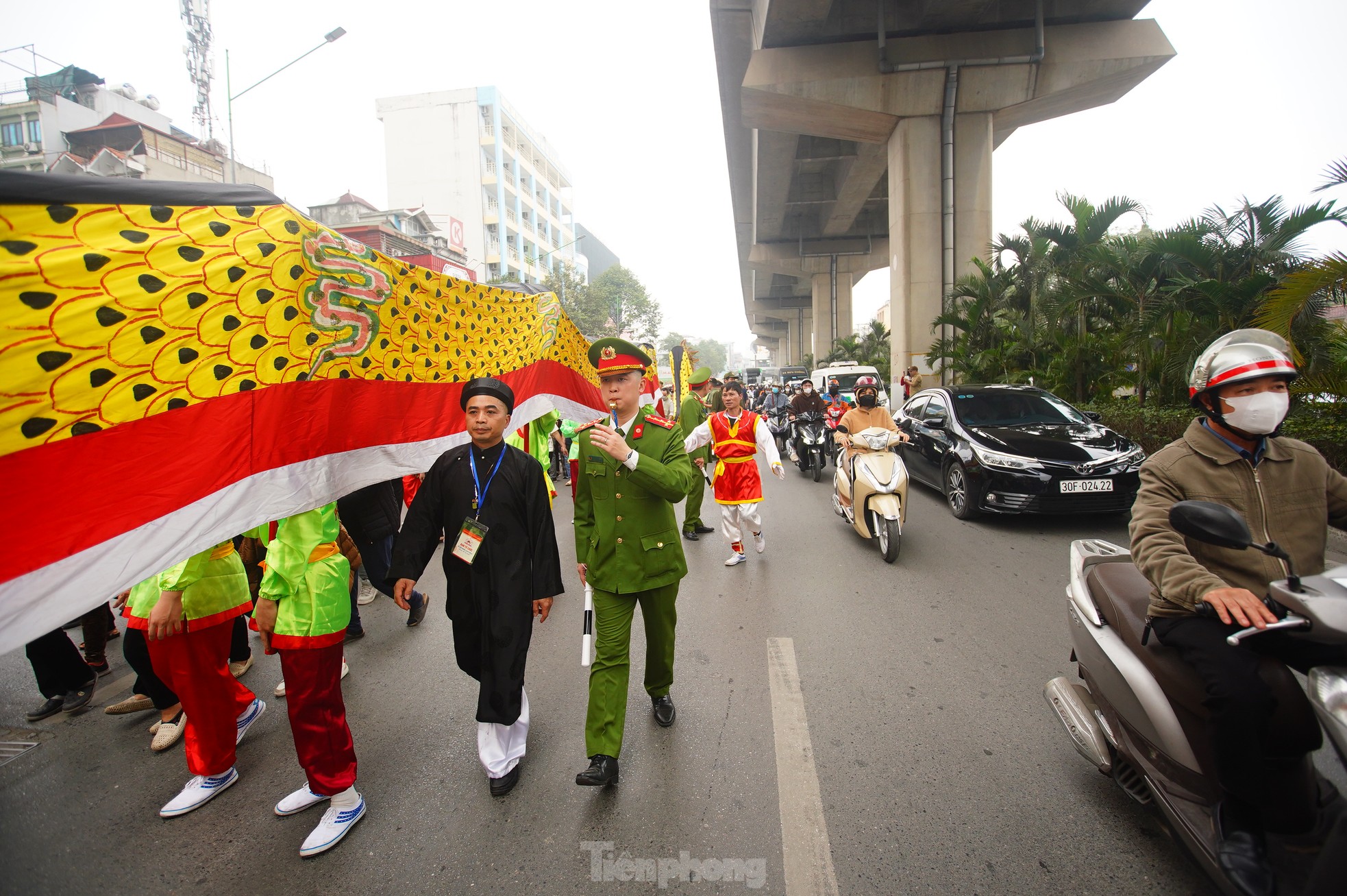
[[[356,783],[356,744],[341,699],[342,644],[282,649],[286,711],[308,790],[323,796]]]

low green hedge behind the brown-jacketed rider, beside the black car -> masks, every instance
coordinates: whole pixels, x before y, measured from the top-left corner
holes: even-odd
[[[1183,435],[1195,411],[1189,407],[1138,408],[1136,402],[1096,402],[1079,406],[1098,411],[1102,423],[1137,442],[1152,454]],[[1282,434],[1309,442],[1339,470],[1347,472],[1347,404],[1309,404],[1294,399]]]

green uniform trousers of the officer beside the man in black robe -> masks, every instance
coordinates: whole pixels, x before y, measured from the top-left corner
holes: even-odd
[[[626,725],[626,683],[632,675],[632,613],[641,605],[645,622],[645,693],[664,697],[674,683],[674,628],[678,582],[649,591],[613,594],[594,589],[597,649],[590,667],[590,703],[585,717],[585,753],[617,756]]]

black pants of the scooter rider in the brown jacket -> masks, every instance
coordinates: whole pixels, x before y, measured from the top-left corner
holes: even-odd
[[[1216,775],[1233,821],[1278,833],[1303,833],[1315,823],[1316,784],[1304,752],[1278,756],[1268,745],[1277,701],[1258,675],[1259,656],[1299,672],[1315,666],[1347,666],[1347,647],[1315,644],[1285,632],[1257,635],[1239,647],[1226,637],[1241,625],[1197,616],[1156,618],[1160,643],[1179,651],[1206,684]],[[1321,737],[1319,738],[1321,742]],[[1319,744],[1301,744],[1305,750]]]

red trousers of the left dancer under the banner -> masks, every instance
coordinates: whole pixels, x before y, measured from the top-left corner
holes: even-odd
[[[148,640],[155,675],[182,702],[187,714],[183,734],[187,771],[222,775],[234,764],[238,717],[253,693],[229,674],[229,637],[233,620],[163,640]]]

